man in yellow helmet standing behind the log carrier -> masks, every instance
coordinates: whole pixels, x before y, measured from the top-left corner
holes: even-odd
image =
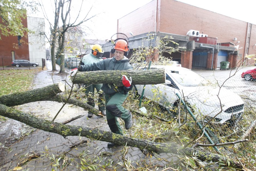
[[[92,46],[92,52],[83,56],[81,60],[80,65],[90,65],[93,63],[97,63],[102,61],[101,59],[104,51],[102,50],[101,46],[99,44],[95,44]],[[87,95],[87,104],[95,107],[95,102],[94,102],[94,90],[96,88],[97,93],[99,93],[102,84],[83,84],[82,85],[84,88],[86,88],[85,94]],[[101,92],[99,93],[99,98],[98,98],[98,107],[99,110],[101,111],[102,115],[106,115],[106,110],[105,110],[105,104],[104,104],[104,93]],[[88,118],[91,118],[93,114],[91,112],[88,112]]]

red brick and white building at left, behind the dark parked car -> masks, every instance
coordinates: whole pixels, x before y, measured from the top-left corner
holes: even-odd
[[[39,63],[42,66],[42,58],[46,59],[44,19],[26,17],[22,19],[24,27],[34,31],[25,33],[24,36],[4,36],[0,40],[0,66],[10,66],[14,59],[25,59]]]

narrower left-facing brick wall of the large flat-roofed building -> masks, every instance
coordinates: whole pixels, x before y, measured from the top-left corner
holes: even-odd
[[[129,32],[133,35],[139,35],[155,30],[155,12],[156,2],[151,1],[143,7],[138,8],[132,13],[117,20],[117,32],[124,33],[128,37],[132,37]]]

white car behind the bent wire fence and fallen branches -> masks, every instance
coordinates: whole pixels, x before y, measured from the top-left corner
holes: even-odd
[[[166,81],[165,84],[146,85],[144,97],[147,99],[172,110],[179,104],[176,96],[178,93],[185,97],[197,119],[203,117],[203,120],[207,121],[220,112],[215,117],[215,122],[222,124],[234,123],[242,117],[244,102],[237,94],[224,87],[211,86],[206,79],[187,68],[157,65],[151,66],[150,69],[157,68],[165,68]],[[138,94],[142,94],[143,85],[135,87]]]

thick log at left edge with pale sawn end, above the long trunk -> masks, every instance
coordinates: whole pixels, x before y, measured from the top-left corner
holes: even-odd
[[[17,106],[30,102],[44,101],[63,91],[65,91],[65,86],[62,83],[53,84],[42,88],[1,96],[0,103],[5,106]]]

